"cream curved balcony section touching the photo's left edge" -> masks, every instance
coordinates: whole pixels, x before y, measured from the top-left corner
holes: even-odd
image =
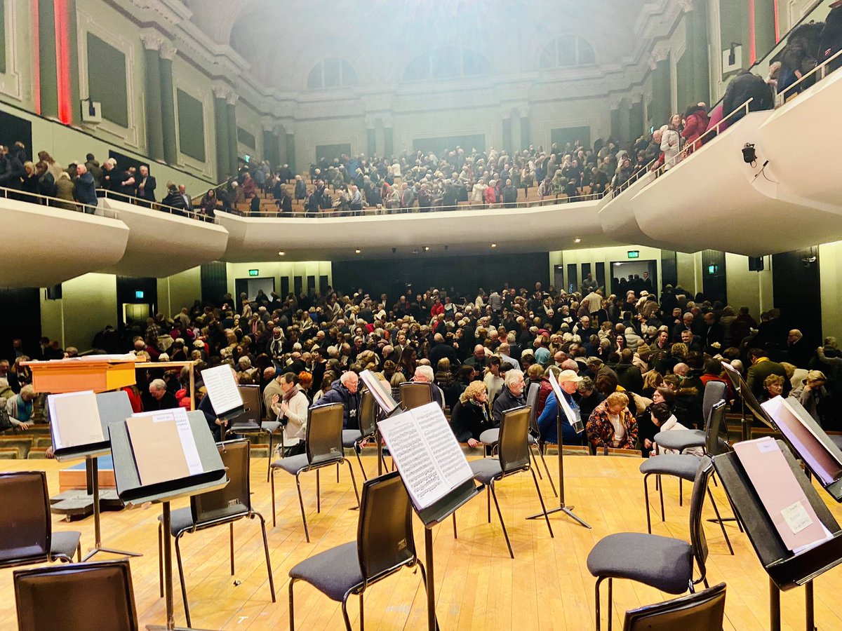
[[[81,209],[56,207],[67,204],[61,199],[13,195],[32,201],[0,199],[5,244],[0,248],[0,286],[50,287],[123,257],[129,227],[109,210],[98,210],[107,216],[88,215]]]

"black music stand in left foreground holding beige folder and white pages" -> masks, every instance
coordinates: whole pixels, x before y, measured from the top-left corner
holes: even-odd
[[[219,490],[228,484],[228,477],[222,465],[213,434],[208,429],[205,414],[201,411],[187,413],[190,431],[196,443],[196,449],[202,463],[203,472],[189,475],[179,480],[169,480],[155,485],[141,485],[137,472],[135,456],[131,448],[128,427],[125,421],[109,425],[111,437],[111,454],[114,459],[114,473],[117,482],[117,495],[126,506],[141,506],[147,502],[161,502],[163,506],[163,574],[167,606],[167,623],[165,625],[148,625],[150,631],[173,631],[183,629],[175,626],[173,613],[173,535],[171,529],[170,507],[171,501],[181,497],[189,497]]]

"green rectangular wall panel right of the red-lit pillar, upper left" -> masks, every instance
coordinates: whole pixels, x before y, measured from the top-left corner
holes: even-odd
[[[88,33],[88,94],[102,103],[104,119],[129,126],[125,55],[92,33]]]

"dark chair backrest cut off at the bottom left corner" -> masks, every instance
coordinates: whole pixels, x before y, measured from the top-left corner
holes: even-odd
[[[129,560],[18,570],[19,631],[137,631]]]

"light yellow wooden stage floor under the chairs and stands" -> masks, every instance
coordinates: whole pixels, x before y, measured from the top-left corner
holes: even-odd
[[[307,544],[301,526],[296,485],[293,476],[276,476],[278,525],[272,528],[271,497],[265,481],[265,459],[252,460],[252,490],[255,508],[268,524],[269,552],[274,570],[278,602],[269,597],[263,545],[258,521],[240,521],[234,527],[237,571],[230,575],[228,528],[212,528],[187,534],[182,539],[188,596],[197,628],[269,629],[288,628],[288,571],[306,557],[337,544],[354,540],[357,515],[354,492],[347,467],[337,485],[333,470],[322,471],[322,512],[316,513],[314,474],[304,474],[302,490],[312,543]],[[375,459],[364,458],[366,469],[376,470]],[[556,471],[555,457],[547,457]],[[568,504],[594,528],[578,526],[567,517],[551,517],[555,538],[550,538],[543,520],[525,521],[540,510],[531,476],[515,475],[498,484],[500,508],[509,528],[515,559],[509,559],[503,533],[492,510],[486,521],[486,501],[477,497],[458,512],[459,539],[454,540],[450,523],[434,531],[437,612],[442,629],[588,629],[594,628],[594,579],[585,565],[588,553],[600,538],[622,531],[646,532],[642,475],[638,459],[568,457]],[[360,477],[356,462],[355,475]],[[50,489],[58,489],[58,470],[50,460],[3,460],[0,469],[45,468]],[[358,480],[359,483],[360,480]],[[720,509],[729,514],[722,487],[711,487]],[[661,522],[657,493],[653,494],[653,533],[688,538],[689,485],[685,483],[685,506],[679,507],[678,483],[665,484],[667,521]],[[557,506],[546,479],[541,491],[547,506]],[[827,498],[823,491],[820,493]],[[829,502],[830,503],[830,502]],[[185,501],[173,507],[184,506]],[[831,506],[842,521],[842,510]],[[131,559],[137,613],[142,624],[165,622],[164,602],[157,585],[157,517],[160,506],[122,512],[105,512],[102,517],[103,543],[107,547],[133,550],[143,556]],[[712,517],[706,505],[706,517]],[[54,520],[55,529],[75,529],[83,533],[83,550],[93,545],[93,517],[81,522]],[[727,525],[736,556],[727,552],[716,524],[706,523],[710,545],[708,580],[711,585],[727,583],[726,629],[748,631],[769,625],[768,581],[754,555],[749,539],[738,533],[733,522]],[[2,536],[2,534],[0,534]],[[415,534],[419,554],[424,556],[424,533]],[[100,554],[97,559],[107,558]],[[175,559],[173,554],[173,565]],[[0,570],[0,628],[16,628],[12,571]],[[173,568],[176,623],[184,624],[184,612]],[[239,581],[237,585],[235,581]],[[840,570],[830,570],[816,581],[816,621],[818,628],[842,628],[839,593]],[[603,590],[605,599],[606,590]],[[614,612],[616,628],[622,628],[626,609],[669,598],[668,595],[630,581],[615,581]],[[356,599],[354,599],[356,600]],[[783,628],[803,629],[803,590],[781,595]],[[354,628],[358,627],[358,607],[349,604]],[[605,601],[603,607],[605,615]],[[426,607],[420,572],[402,570],[370,588],[365,596],[366,628],[426,628]],[[343,628],[338,603],[330,601],[303,583],[296,585],[296,626],[301,629]]]

